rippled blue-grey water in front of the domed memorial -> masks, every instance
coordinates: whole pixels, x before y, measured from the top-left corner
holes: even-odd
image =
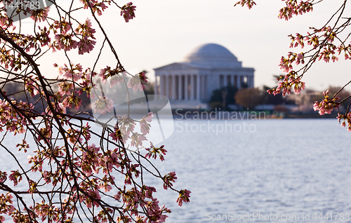
[[[145,179],[172,210],[166,222],[351,222],[351,133],[336,119],[168,119],[163,128],[172,122],[165,161],[154,163],[192,194],[178,207],[175,191]]]

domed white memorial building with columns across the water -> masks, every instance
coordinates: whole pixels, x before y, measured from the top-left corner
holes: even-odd
[[[155,95],[169,98],[172,108],[206,108],[213,90],[225,86],[253,88],[253,72],[230,50],[215,43],[194,48],[182,62],[154,69]]]

